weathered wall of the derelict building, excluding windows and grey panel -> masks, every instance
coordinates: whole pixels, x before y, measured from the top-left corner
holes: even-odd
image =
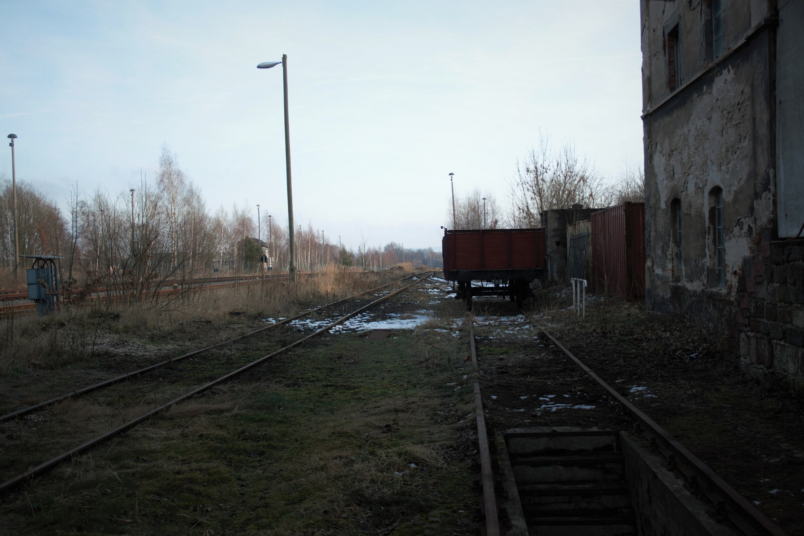
[[[804,388],[804,240],[774,241],[775,27],[762,23],[769,4],[724,2],[727,55],[714,68],[702,63],[700,47],[697,59],[689,50],[700,27],[696,6],[642,2],[647,305],[720,329],[724,358]],[[671,96],[663,32],[676,21],[687,45],[686,85]],[[715,187],[724,201],[724,287],[714,277]],[[676,198],[680,264],[672,238]]]

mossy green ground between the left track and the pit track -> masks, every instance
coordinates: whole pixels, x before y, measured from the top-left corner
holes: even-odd
[[[424,330],[303,347],[40,477],[0,531],[474,534],[465,346]]]

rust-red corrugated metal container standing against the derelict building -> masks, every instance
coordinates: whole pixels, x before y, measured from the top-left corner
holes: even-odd
[[[645,203],[593,213],[592,262],[598,292],[645,296]]]

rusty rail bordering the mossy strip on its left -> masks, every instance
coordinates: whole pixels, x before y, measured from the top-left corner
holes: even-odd
[[[14,488],[14,486],[20,485],[23,482],[27,481],[27,479],[29,479],[31,477],[34,477],[34,476],[36,476],[36,475],[38,475],[40,473],[44,473],[47,470],[55,467],[56,465],[60,464],[61,462],[65,461],[65,460],[72,459],[72,456],[76,456],[76,455],[80,454],[81,452],[84,452],[84,451],[88,450],[89,448],[92,448],[95,445],[104,442],[105,440],[109,440],[110,438],[113,438],[115,436],[120,435],[122,432],[125,432],[125,431],[129,430],[130,428],[133,428],[133,427],[137,426],[137,424],[139,424],[139,423],[142,423],[142,422],[144,422],[144,421],[146,421],[148,419],[153,418],[155,415],[158,415],[158,413],[160,413],[162,411],[165,411],[166,409],[174,406],[177,403],[180,403],[180,402],[183,402],[183,401],[185,401],[187,399],[190,399],[191,397],[193,397],[195,395],[199,395],[199,394],[203,393],[204,391],[207,391],[207,390],[211,389],[211,387],[215,387],[215,386],[219,385],[220,383],[224,383],[224,382],[228,381],[231,378],[235,378],[236,376],[238,376],[240,374],[243,374],[247,370],[251,370],[252,368],[254,368],[256,366],[259,366],[261,363],[266,362],[269,359],[272,359],[272,358],[276,357],[277,355],[279,355],[279,354],[281,354],[283,352],[286,352],[287,350],[291,350],[291,349],[295,348],[296,346],[301,345],[303,342],[309,341],[311,338],[317,337],[318,335],[320,335],[322,333],[326,333],[330,329],[334,328],[336,325],[339,325],[339,324],[343,323],[344,321],[349,320],[351,317],[355,317],[359,313],[363,313],[363,311],[365,311],[367,309],[370,309],[371,307],[373,307],[375,305],[378,305],[380,302],[386,301],[386,300],[388,300],[388,298],[394,297],[397,294],[404,292],[408,288],[411,288],[413,285],[419,283],[421,280],[425,280],[427,277],[429,277],[430,274],[425,273],[425,274],[416,274],[416,275],[421,276],[419,280],[416,280],[416,281],[414,281],[414,282],[412,282],[410,284],[407,284],[402,288],[398,288],[395,291],[393,291],[391,293],[388,293],[385,296],[380,297],[379,299],[377,299],[375,301],[371,301],[367,305],[363,305],[363,306],[359,307],[358,309],[355,309],[351,313],[348,313],[348,314],[344,315],[343,317],[340,317],[337,320],[331,322],[330,324],[322,327],[321,329],[316,330],[314,333],[310,333],[309,335],[307,335],[304,338],[298,339],[295,342],[291,342],[290,344],[287,344],[286,346],[281,347],[279,350],[275,350],[275,351],[273,351],[273,352],[271,352],[269,354],[266,354],[266,355],[263,355],[260,358],[257,358],[256,360],[254,360],[252,362],[248,362],[247,364],[238,367],[236,370],[232,370],[232,371],[228,372],[227,374],[224,374],[222,376],[219,376],[218,378],[215,378],[215,379],[213,379],[211,381],[208,381],[207,383],[204,383],[200,387],[195,387],[191,391],[187,391],[187,392],[183,393],[182,395],[179,395],[178,397],[176,397],[174,399],[171,399],[167,403],[163,403],[162,405],[160,405],[158,407],[154,407],[150,411],[146,411],[142,415],[138,415],[137,417],[135,417],[133,419],[129,419],[125,423],[122,423],[120,426],[117,426],[117,428],[113,428],[113,429],[111,429],[111,430],[109,430],[107,432],[104,432],[104,433],[100,434],[99,436],[93,437],[91,440],[88,440],[88,441],[84,442],[83,444],[80,444],[79,446],[77,446],[75,448],[71,448],[66,452],[62,452],[58,456],[54,456],[50,460],[47,460],[46,462],[44,462],[42,464],[39,464],[36,467],[25,471],[24,473],[18,474],[16,477],[10,478],[8,481],[5,481],[2,484],[0,484],[0,491],[6,491],[6,490],[9,490],[9,489],[12,489],[12,488]],[[416,275],[414,275],[414,276],[416,276]],[[404,279],[407,279],[407,278],[404,278]],[[396,282],[398,282],[398,281],[396,281]],[[367,291],[367,292],[370,292],[370,291]],[[330,305],[332,305],[332,304],[330,304]]]

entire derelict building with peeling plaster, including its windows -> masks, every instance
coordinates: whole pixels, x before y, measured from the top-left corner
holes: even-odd
[[[804,387],[804,2],[641,0],[646,301]]]

